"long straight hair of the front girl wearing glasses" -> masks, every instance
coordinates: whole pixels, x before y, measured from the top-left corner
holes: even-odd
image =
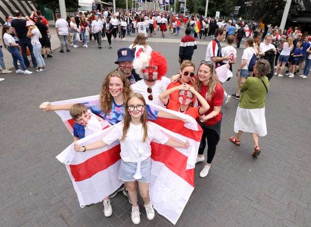
[[[143,105],[144,105],[144,112],[140,117],[140,122],[142,124],[142,130],[143,130],[142,142],[146,142],[147,137],[148,137],[146,101],[145,101],[145,98],[140,93],[131,93],[125,102],[126,110],[125,110],[125,115],[124,115],[123,135],[120,141],[125,140],[126,134],[130,128],[131,115],[129,114],[127,108],[128,108],[129,101],[133,98],[138,98],[140,101],[143,102]]]

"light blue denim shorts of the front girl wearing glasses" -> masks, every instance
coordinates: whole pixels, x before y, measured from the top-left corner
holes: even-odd
[[[124,162],[121,160],[119,168],[119,179],[123,181],[139,181],[143,183],[150,182],[150,171],[151,171],[151,157],[140,162],[140,179],[135,179],[134,174],[136,173],[137,162]]]

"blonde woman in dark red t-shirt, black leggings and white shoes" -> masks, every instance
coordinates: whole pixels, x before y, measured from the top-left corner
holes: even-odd
[[[202,61],[197,77],[194,81],[194,88],[206,100],[209,105],[209,110],[202,116],[199,116],[198,122],[203,129],[200,148],[196,162],[204,161],[204,149],[207,140],[207,163],[200,172],[200,177],[207,176],[210,164],[216,153],[216,146],[220,139],[220,128],[222,122],[222,113],[220,112],[223,105],[224,89],[219,83],[215,67],[212,62]],[[202,106],[199,102],[199,105]]]

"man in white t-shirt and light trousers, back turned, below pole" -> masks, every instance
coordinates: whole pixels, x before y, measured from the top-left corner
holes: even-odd
[[[69,25],[65,19],[62,18],[60,14],[56,14],[56,22],[55,22],[55,29],[57,33],[57,37],[60,41],[60,53],[64,53],[64,42],[66,45],[66,51],[70,52],[69,49]]]

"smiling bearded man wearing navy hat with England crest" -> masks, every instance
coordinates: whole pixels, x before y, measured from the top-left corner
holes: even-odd
[[[134,51],[132,49],[121,48],[118,50],[118,59],[115,62],[119,65],[117,70],[123,72],[131,84],[141,80],[133,68],[133,61]]]

